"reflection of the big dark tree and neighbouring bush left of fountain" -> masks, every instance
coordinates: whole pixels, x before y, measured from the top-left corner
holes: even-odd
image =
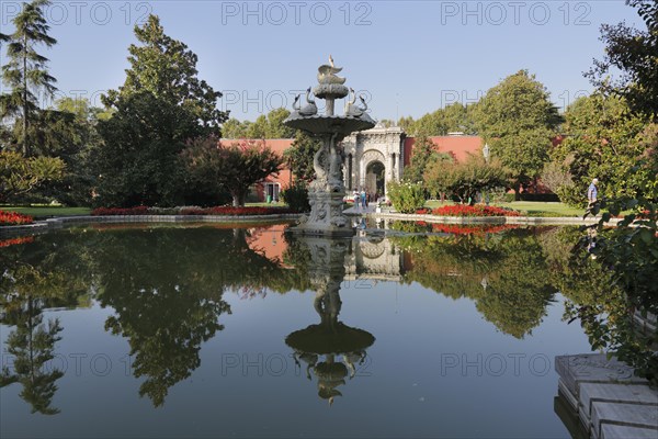
[[[100,236],[94,255],[99,300],[115,315],[105,328],[124,336],[139,394],[156,406],[200,364],[201,345],[224,329],[225,289],[281,286],[279,263],[251,250],[245,229],[163,228]]]

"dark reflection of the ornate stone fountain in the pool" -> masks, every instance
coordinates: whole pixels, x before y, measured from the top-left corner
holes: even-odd
[[[342,396],[338,387],[345,384],[345,378],[355,376],[375,337],[338,320],[342,306],[339,290],[350,243],[299,237],[290,238],[288,244],[288,260],[303,262],[300,267],[316,290],[314,307],[320,323],[292,333],[285,342],[294,349],[295,363],[306,368],[306,378],[316,376],[318,396],[331,405],[336,396]]]

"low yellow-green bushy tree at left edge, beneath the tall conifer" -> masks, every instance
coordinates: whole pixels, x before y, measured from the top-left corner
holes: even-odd
[[[0,201],[20,201],[48,181],[59,181],[66,165],[59,158],[0,153]]]

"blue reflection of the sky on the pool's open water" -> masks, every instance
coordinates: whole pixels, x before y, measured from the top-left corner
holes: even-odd
[[[121,239],[115,244],[137,251]],[[180,245],[171,244],[169,257]],[[553,409],[553,359],[590,348],[577,324],[560,320],[560,295],[532,335],[518,339],[497,330],[469,299],[415,282],[344,281],[338,320],[376,341],[355,376],[337,387],[342,396],[332,406],[318,397],[317,378],[307,379],[284,342],[320,322],[315,293],[240,297],[224,294],[231,309],[218,317],[225,328],[200,344],[201,364],[169,389],[159,408],[138,396],[144,378],[128,368],[127,340],[104,329],[114,309],[94,302],[45,312],[44,320],[58,317],[64,327],[53,361],[63,364],[64,358],[67,365],[53,398],[60,413],[31,415],[21,386],[9,385],[0,393],[1,436],[568,437]],[[4,349],[12,328],[0,329]],[[3,350],[3,364],[10,360]]]

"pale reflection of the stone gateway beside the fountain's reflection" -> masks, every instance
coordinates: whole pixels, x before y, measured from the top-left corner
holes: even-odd
[[[384,236],[355,236],[345,258],[345,280],[399,282],[405,273],[402,251]]]

